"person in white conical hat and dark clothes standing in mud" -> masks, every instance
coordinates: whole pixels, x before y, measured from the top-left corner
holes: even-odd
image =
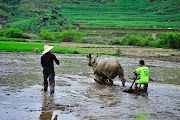
[[[41,65],[43,67],[44,77],[44,91],[48,89],[48,78],[50,84],[50,94],[54,94],[55,89],[55,72],[54,72],[54,61],[59,65],[59,60],[54,54],[51,53],[51,49],[54,46],[44,45],[43,56],[41,57]]]

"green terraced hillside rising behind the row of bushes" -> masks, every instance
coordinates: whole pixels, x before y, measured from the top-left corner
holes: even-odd
[[[180,28],[179,0],[3,0],[15,16],[6,26],[42,29]],[[4,3],[5,4],[5,3]],[[45,21],[44,21],[45,20]]]

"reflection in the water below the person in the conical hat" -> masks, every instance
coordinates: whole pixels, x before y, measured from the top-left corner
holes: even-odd
[[[39,120],[51,120],[54,110],[54,97],[48,96],[47,93],[43,95],[42,112]],[[57,115],[53,120],[57,120]]]

